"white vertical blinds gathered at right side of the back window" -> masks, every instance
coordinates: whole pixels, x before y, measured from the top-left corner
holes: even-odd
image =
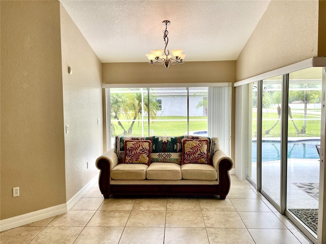
[[[231,87],[208,87],[208,136],[219,137],[220,148],[230,155]]]

